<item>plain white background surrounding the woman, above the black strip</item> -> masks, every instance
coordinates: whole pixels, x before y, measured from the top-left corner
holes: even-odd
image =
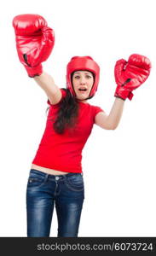
[[[26,236],[26,183],[43,135],[47,96],[20,64],[12,20],[38,14],[55,30],[55,47],[43,68],[66,87],[66,63],[91,55],[101,81],[90,104],[107,113],[116,84],[113,68],[133,53],[153,68],[115,131],[94,125],[83,150],[85,200],[78,236],[156,236],[155,94],[156,16],[153,0],[5,0],[0,8],[1,173],[0,236]],[[54,213],[50,236],[57,236]]]

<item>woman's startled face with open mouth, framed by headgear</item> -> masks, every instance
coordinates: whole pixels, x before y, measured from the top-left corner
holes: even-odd
[[[75,71],[72,75],[72,85],[76,93],[76,98],[81,102],[90,95],[90,90],[94,84],[93,74],[89,71]]]

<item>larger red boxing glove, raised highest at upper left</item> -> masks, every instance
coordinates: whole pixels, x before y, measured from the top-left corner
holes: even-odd
[[[16,49],[20,62],[33,78],[43,73],[46,61],[55,44],[55,33],[40,15],[18,15],[13,20]]]

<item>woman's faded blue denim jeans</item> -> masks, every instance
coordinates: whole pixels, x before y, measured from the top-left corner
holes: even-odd
[[[27,236],[49,236],[55,206],[58,237],[77,237],[83,202],[81,173],[51,175],[31,169],[26,188]]]

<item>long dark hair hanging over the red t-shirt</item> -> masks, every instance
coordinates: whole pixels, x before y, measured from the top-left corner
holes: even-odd
[[[78,102],[75,97],[72,97],[70,90],[66,88],[61,88],[66,91],[66,96],[62,99],[60,103],[60,108],[58,110],[55,122],[53,124],[55,132],[62,134],[67,127],[73,127],[76,125],[76,120],[78,117]],[[49,108],[46,109],[46,112]],[[52,118],[49,117],[53,121]]]

